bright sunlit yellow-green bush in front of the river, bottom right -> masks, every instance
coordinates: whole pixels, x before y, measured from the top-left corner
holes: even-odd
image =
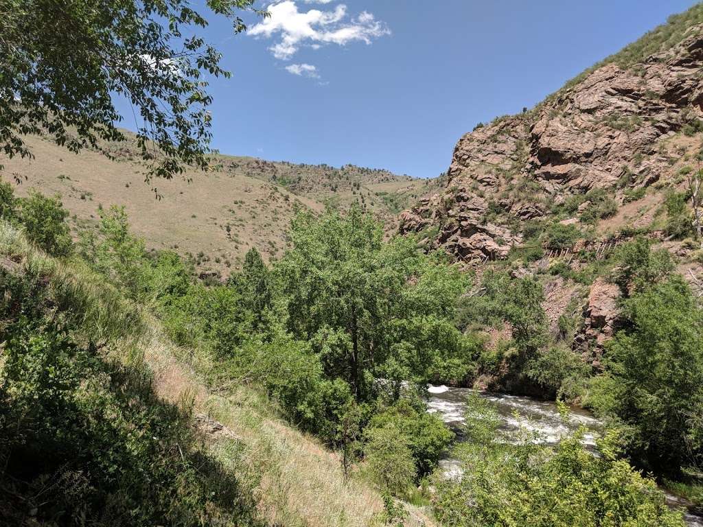
[[[448,527],[683,527],[654,481],[618,460],[608,436],[594,456],[583,429],[556,448],[503,443],[496,410],[470,399],[463,474],[437,479],[434,514]]]

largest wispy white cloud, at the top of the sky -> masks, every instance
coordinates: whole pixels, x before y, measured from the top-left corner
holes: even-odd
[[[312,1],[304,0],[306,4]],[[332,0],[316,1],[328,4]],[[280,35],[280,41],[269,49],[281,60],[289,60],[301,46],[317,49],[321,44],[344,46],[352,41],[371,44],[373,39],[390,34],[388,27],[367,11],[349,18],[344,4],[337,5],[332,11],[311,9],[302,12],[298,11],[295,0],[283,0],[271,4],[266,10],[271,16],[254,25],[249,34],[267,39]]]

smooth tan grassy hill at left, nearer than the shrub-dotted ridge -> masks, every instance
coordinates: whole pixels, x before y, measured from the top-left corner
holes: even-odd
[[[276,256],[285,246],[284,231],[296,204],[323,209],[321,203],[278,186],[224,172],[188,174],[192,183],[179,178],[157,181],[162,196],[157,200],[144,183],[143,168],[134,162],[109,160],[87,150],[75,155],[39,138],[28,138],[27,143],[34,160],[2,160],[3,177],[12,181],[16,175],[23,181],[16,188],[18,194],[32,187],[59,193],[79,222],[94,221],[98,204],[124,205],[134,230],[150,247],[177,248],[193,255],[202,251],[209,261],[203,261],[201,268],[226,272],[227,261],[237,266],[250,247],[257,247],[266,258]]]

